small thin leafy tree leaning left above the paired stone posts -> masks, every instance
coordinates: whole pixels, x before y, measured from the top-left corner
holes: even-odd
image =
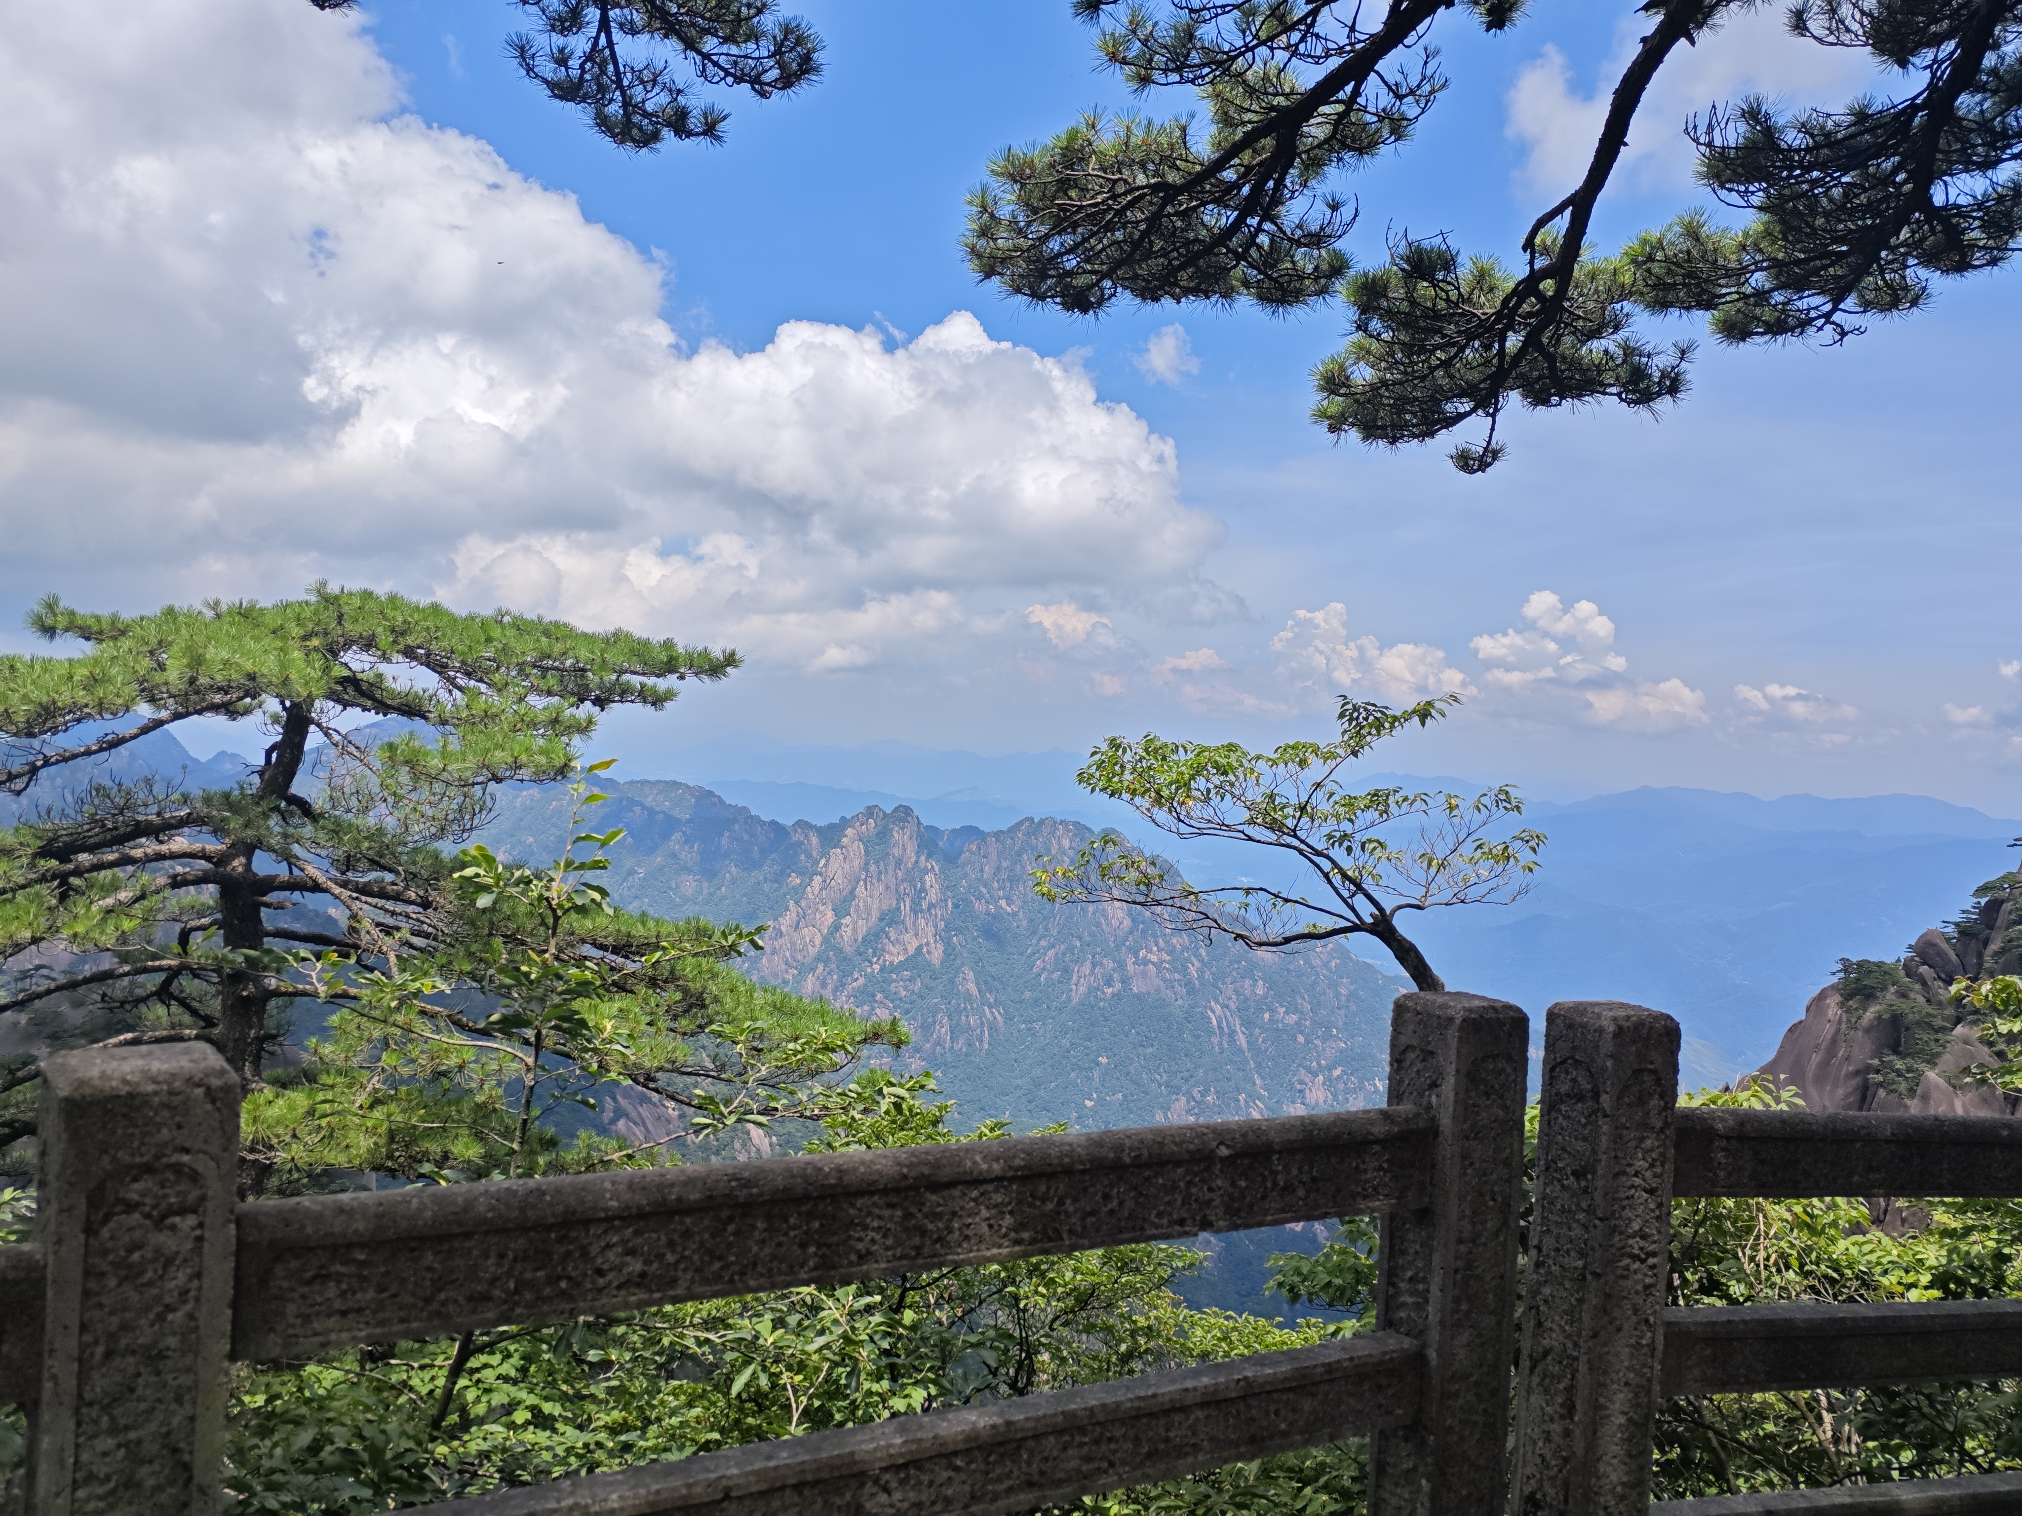
[[[1167,859],[1104,831],[1072,859],[1041,859],[1033,887],[1045,899],[1116,902],[1167,926],[1221,934],[1246,948],[1304,948],[1369,936],[1389,948],[1421,990],[1444,990],[1403,932],[1413,912],[1510,902],[1539,867],[1545,835],[1510,829],[1523,800],[1508,784],[1474,796],[1377,786],[1357,790],[1349,766],[1407,726],[1430,726],[1458,695],[1403,709],[1341,697],[1332,742],[1242,744],[1110,738],[1076,776],[1122,800],[1181,841],[1235,841],[1270,849],[1318,879],[1296,893],[1270,883],[1199,887]]]

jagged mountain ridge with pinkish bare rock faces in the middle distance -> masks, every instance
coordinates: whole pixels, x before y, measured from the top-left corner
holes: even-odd
[[[552,857],[552,792],[505,798],[485,839]],[[1090,837],[1027,819],[944,831],[908,807],[829,825],[764,821],[671,780],[613,786],[607,883],[669,916],[768,922],[750,970],[898,1015],[902,1065],[962,1118],[1132,1126],[1379,1104],[1389,1003],[1409,988],[1345,948],[1256,954],[1118,906],[1051,906],[1029,869]]]

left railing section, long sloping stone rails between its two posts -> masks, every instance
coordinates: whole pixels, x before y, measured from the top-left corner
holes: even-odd
[[[216,1053],[57,1055],[36,1243],[0,1249],[28,1510],[212,1516],[233,1358],[1369,1213],[1367,1336],[433,1510],[1017,1512],[1361,1433],[1381,1510],[1494,1510],[1527,1041],[1516,1007],[1407,997],[1385,1110],[255,1205]]]

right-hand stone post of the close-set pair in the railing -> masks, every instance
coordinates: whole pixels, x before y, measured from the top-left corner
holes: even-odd
[[[1514,1516],[1650,1504],[1676,1102],[1678,1023],[1662,1011],[1545,1013]]]

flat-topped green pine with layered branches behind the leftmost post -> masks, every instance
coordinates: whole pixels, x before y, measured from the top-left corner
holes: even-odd
[[[481,827],[493,786],[568,776],[601,712],[659,709],[681,681],[738,667],[730,651],[324,584],[148,617],[49,598],[28,625],[87,651],[0,657],[0,790],[20,796],[0,831],[14,970],[0,1013],[152,1005],[247,1079],[277,1037],[267,1007],[305,992],[285,950],[364,962],[469,938],[473,910],[503,908],[463,899],[437,843]],[[273,738],[237,788],[115,764],[198,716]],[[599,922],[572,922],[566,952],[661,946],[657,924]],[[685,956],[734,956],[752,934],[685,936]]]

